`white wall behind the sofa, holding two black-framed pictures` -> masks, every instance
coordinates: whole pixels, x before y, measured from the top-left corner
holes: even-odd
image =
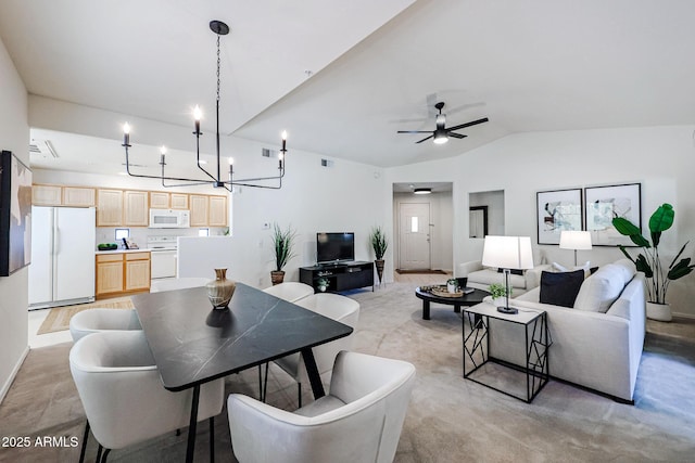
[[[456,158],[389,169],[389,183],[453,181],[454,209],[468,209],[468,193],[505,192],[505,233],[536,242],[535,193],[629,182],[642,183],[643,230],[659,204],[675,208],[675,226],[665,232],[664,260],[686,241],[695,254],[695,144],[693,126],[519,133]],[[501,168],[504,166],[504,168]],[[384,200],[386,202],[386,200]],[[387,204],[388,207],[388,204]],[[391,210],[393,214],[393,210]],[[468,237],[468,214],[456,215],[454,262],[479,259],[482,240]],[[573,254],[558,246],[534,245],[534,258],[571,265]],[[622,255],[617,248],[579,252],[579,260],[607,263]],[[695,318],[695,275],[671,284],[668,299],[674,312]]]

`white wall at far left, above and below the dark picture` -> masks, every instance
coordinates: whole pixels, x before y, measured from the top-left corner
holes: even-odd
[[[0,41],[0,149],[11,151],[29,165],[27,92]],[[28,352],[28,268],[0,278],[0,401]]]

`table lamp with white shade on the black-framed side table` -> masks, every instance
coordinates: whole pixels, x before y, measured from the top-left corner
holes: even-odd
[[[497,311],[517,313],[517,309],[509,307],[509,270],[533,268],[531,239],[529,236],[485,236],[482,249],[482,265],[501,268],[504,272],[504,284],[507,294],[504,307],[497,307]]]

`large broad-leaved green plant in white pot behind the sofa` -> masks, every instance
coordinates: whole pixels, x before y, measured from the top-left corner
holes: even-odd
[[[642,253],[633,259],[624,246],[619,245],[622,254],[632,260],[637,271],[643,272],[647,280],[647,317],[654,320],[670,321],[671,307],[666,301],[666,292],[669,283],[691,273],[695,265],[691,263],[691,258],[679,260],[686,242],[681,250],[675,255],[668,267],[661,263],[659,258],[659,243],[661,233],[670,229],[673,224],[675,211],[668,203],[660,205],[649,218],[649,233],[652,242],[642,236],[640,228],[623,217],[612,219],[612,226],[622,235],[630,236],[630,240],[642,248]]]

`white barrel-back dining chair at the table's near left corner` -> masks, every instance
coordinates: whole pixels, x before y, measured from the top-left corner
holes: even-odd
[[[87,415],[80,462],[90,428],[99,442],[96,461],[105,462],[111,450],[189,425],[192,389],[170,393],[162,386],[142,331],[105,331],[80,338],[70,351],[70,369]],[[211,458],[214,416],[224,401],[224,378],[202,385],[198,420],[210,419]]]

